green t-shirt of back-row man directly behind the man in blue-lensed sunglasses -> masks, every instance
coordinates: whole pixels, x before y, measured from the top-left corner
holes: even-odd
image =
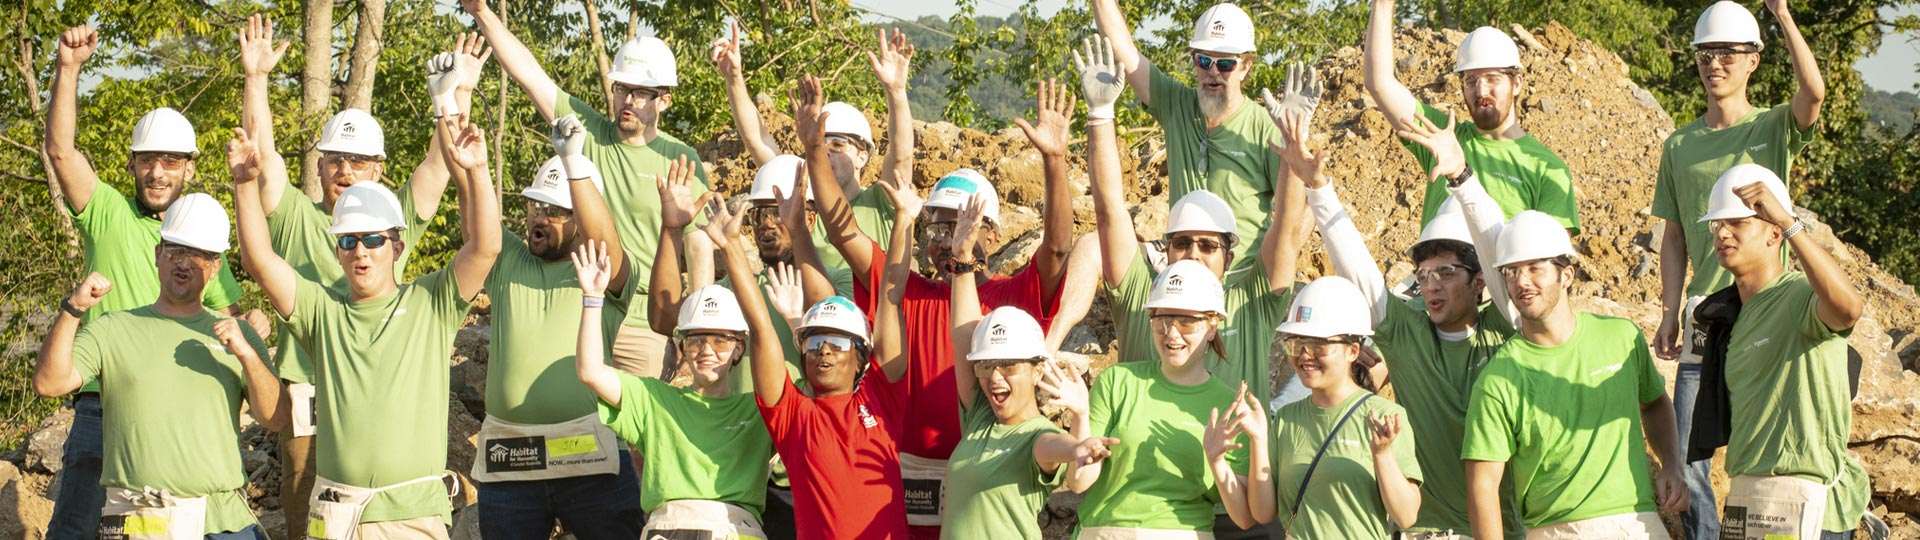
[[[407,242],[407,248],[399,252],[399,259],[394,261],[394,273],[405,275],[407,259],[413,258],[415,246],[430,219],[420,219],[420,213],[413,206],[413,184],[399,188],[399,209],[407,217],[407,229],[399,231],[399,238]],[[348,294],[346,269],[340,267],[340,256],[334,254],[334,234],[326,233],[332,227],[332,211],[321,208],[319,202],[307,198],[305,192],[288,186],[280,192],[280,204],[267,213],[267,240],[273,244],[273,252],[286,259],[286,265],[294,267],[305,281],[324,284],[338,296]],[[286,327],[280,327],[280,334],[286,336]],[[313,379],[313,354],[303,352],[300,346],[288,346],[288,340],[280,340],[280,348],[273,352],[273,365],[280,379],[292,382],[311,382]]]

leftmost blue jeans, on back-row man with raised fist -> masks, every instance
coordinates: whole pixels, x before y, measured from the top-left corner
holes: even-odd
[[[100,507],[108,503],[100,488],[100,394],[73,398],[73,429],[60,455],[60,492],[54,494],[54,519],[46,525],[48,540],[90,540],[100,530]]]

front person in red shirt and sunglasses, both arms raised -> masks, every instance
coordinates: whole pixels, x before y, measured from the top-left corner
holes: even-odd
[[[912,192],[889,186],[897,211],[920,211]],[[739,209],[714,204],[708,221],[739,221]],[[768,306],[756,286],[741,286],[753,340],[753,388],[760,419],[774,438],[774,452],[787,465],[793,484],[793,525],[806,538],[908,538],[906,498],[895,440],[906,427],[906,356],[900,346],[899,302],[906,279],[910,219],[897,219],[895,258],[885,259],[885,292],[877,298],[874,336],[868,317],[845,296],[829,296],[806,309],[793,334],[814,394],[793,386]],[[724,231],[724,229],[722,229]],[[714,238],[726,254],[733,282],[753,282],[747,256],[735,242]],[[803,273],[820,273],[803,265]],[[877,369],[876,369],[877,367]]]

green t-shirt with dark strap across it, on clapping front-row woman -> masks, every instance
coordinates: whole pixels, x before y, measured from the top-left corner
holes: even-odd
[[[1398,415],[1407,411],[1384,398],[1357,404],[1354,417],[1332,430],[1340,417],[1356,405],[1359,398],[1373,392],[1359,390],[1338,405],[1321,409],[1313,400],[1300,400],[1281,407],[1273,415],[1273,488],[1279,509],[1275,515],[1286,525],[1286,534],[1294,538],[1388,538],[1396,527],[1386,523],[1386,502],[1380,500],[1379,475],[1373,471],[1373,434],[1367,429],[1371,415]],[[1402,427],[1407,427],[1402,423]],[[1292,513],[1300,500],[1300,480],[1313,463],[1313,454],[1332,432],[1327,455],[1313,467],[1308,479],[1306,502],[1300,513]],[[1394,438],[1394,461],[1400,475],[1421,482],[1421,463],[1413,459],[1411,427],[1402,429]],[[1457,467],[1457,465],[1455,465]]]

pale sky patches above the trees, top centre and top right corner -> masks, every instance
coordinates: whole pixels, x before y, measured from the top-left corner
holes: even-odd
[[[1023,0],[975,0],[975,12],[981,15],[1006,15],[1012,13]],[[952,15],[958,6],[948,0],[916,0],[916,2],[893,2],[893,0],[852,0],[854,6],[868,12],[877,12],[902,19],[918,19],[924,15],[947,17]],[[1058,12],[1066,0],[1041,0],[1041,13],[1050,15]],[[1885,10],[1882,15],[1897,17],[1903,13],[1920,13],[1920,8],[1907,10]],[[885,17],[874,17],[885,19]],[[1165,23],[1165,21],[1154,21]],[[1885,92],[1920,92],[1920,42],[1903,37],[1887,38],[1880,44],[1880,50],[1868,58],[1862,58],[1853,67],[1860,71],[1866,79],[1866,86],[1885,90]]]

